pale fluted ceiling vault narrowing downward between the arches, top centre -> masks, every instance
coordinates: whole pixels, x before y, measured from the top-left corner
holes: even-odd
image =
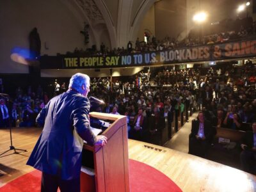
[[[126,46],[129,40],[136,40],[140,22],[157,0],[60,0],[79,9],[79,15],[92,29],[95,44],[100,45],[99,26],[108,29],[111,47]],[[76,8],[74,8],[76,6]],[[77,15],[77,12],[74,13]],[[81,19],[80,19],[81,20]]]

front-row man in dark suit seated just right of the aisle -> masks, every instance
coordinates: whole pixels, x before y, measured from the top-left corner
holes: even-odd
[[[213,138],[211,122],[205,120],[204,113],[199,112],[197,120],[193,120],[189,134],[189,154],[205,157]]]

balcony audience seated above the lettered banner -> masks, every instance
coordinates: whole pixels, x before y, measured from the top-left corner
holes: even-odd
[[[237,20],[232,22],[228,20],[225,22],[229,24],[233,23],[232,27],[226,28],[226,31],[214,29],[214,26],[207,26],[206,29],[211,28],[211,31],[215,32],[214,34],[212,34],[212,32],[210,31],[209,34],[202,35],[202,32],[200,32],[200,30],[198,31],[196,29],[192,29],[189,32],[189,35],[183,38],[182,40],[178,40],[178,38],[172,38],[170,36],[166,36],[163,40],[157,40],[155,36],[150,36],[147,33],[145,33],[145,38],[147,38],[147,42],[145,42],[145,40],[140,40],[139,38],[137,38],[136,42],[129,41],[127,43],[127,47],[118,47],[114,49],[110,49],[102,43],[100,44],[99,51],[97,51],[97,47],[93,45],[92,49],[87,49],[86,51],[84,51],[83,49],[78,49],[76,47],[73,53],[67,52],[67,54],[106,56],[113,54],[120,55],[127,53],[162,51],[166,49],[175,49],[179,47],[221,44],[245,38],[248,36],[253,36],[256,33],[256,22],[253,22],[252,19],[246,19],[246,21]],[[239,28],[237,26],[239,26]],[[222,25],[221,29],[223,29]]]

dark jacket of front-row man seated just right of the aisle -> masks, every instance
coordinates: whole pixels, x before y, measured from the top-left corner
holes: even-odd
[[[192,121],[192,129],[191,129],[191,136],[195,137],[196,134],[198,133],[199,130],[199,120],[193,120]],[[214,136],[213,128],[211,125],[211,122],[208,120],[204,121],[204,135],[205,135],[205,140],[211,142],[212,138]]]

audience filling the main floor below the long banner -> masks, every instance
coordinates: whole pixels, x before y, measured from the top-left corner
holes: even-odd
[[[237,72],[243,75],[236,77]],[[196,68],[178,70],[170,66],[140,72],[131,77],[131,81],[111,83],[109,77],[92,78],[89,94],[106,102],[104,106],[92,106],[92,111],[127,116],[129,138],[159,145],[161,130],[165,126],[164,118],[168,118],[168,126],[171,127],[168,136],[171,137],[175,113],[184,112],[184,106],[191,111],[201,109],[205,120],[211,122],[213,128],[207,136],[209,141],[219,127],[250,129],[250,124],[256,122],[255,82],[255,67],[251,61],[243,67],[232,67],[232,70],[210,67],[205,74],[200,74]],[[54,83],[52,88],[52,95],[67,90],[65,84],[60,86],[58,83]],[[0,100],[1,118],[4,119],[1,127],[8,126],[8,118],[12,126],[35,126],[35,118],[51,94],[44,92],[41,86],[36,91],[31,86],[27,91],[18,87],[15,93],[13,99],[2,97]],[[195,130],[194,133],[198,133]],[[193,154],[193,149],[189,152]],[[205,151],[196,155],[204,157]]]

